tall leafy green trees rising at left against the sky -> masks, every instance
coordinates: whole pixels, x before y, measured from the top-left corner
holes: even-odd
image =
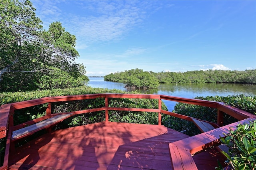
[[[89,80],[85,67],[74,61],[79,56],[74,48],[76,36],[66,32],[60,22],[43,30],[35,10],[29,0],[1,1],[1,92],[84,85]],[[64,77],[56,79],[60,74]]]

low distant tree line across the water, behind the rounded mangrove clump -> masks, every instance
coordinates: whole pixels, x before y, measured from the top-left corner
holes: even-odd
[[[138,69],[139,70],[139,69]],[[181,72],[161,72],[153,73],[159,83],[256,83],[256,69],[245,71],[225,71],[225,70],[206,70],[206,71],[187,71]],[[125,82],[130,76],[128,71],[111,73],[104,76],[106,81]]]

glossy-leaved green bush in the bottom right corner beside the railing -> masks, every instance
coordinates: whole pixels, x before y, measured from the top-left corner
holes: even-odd
[[[254,170],[256,168],[256,121],[230,129],[221,142],[229,147],[227,163],[232,170]],[[230,156],[231,155],[231,156]]]

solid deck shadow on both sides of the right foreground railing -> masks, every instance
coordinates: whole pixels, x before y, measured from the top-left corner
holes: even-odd
[[[167,133],[121,145],[108,165],[108,170],[170,170],[172,164],[169,143],[188,137],[186,134],[168,128]],[[214,148],[196,154],[193,158],[198,170],[215,170],[218,160],[225,160]]]

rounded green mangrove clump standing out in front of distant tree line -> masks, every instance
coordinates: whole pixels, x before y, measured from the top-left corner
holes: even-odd
[[[126,88],[134,89],[152,89],[159,86],[158,79],[156,79],[152,72],[143,71],[138,68],[120,73],[111,73],[104,76],[104,80],[122,82]]]

